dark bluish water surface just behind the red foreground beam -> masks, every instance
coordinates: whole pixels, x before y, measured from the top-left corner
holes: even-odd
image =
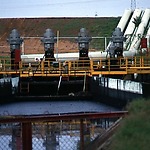
[[[0,115],[38,115],[82,112],[110,112],[116,108],[94,101],[34,101],[0,105]]]

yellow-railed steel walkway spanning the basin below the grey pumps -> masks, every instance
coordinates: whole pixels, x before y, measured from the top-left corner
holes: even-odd
[[[100,58],[70,61],[20,61],[11,64],[10,58],[0,58],[1,75],[19,77],[80,77],[99,75],[149,74],[150,56],[132,58]]]

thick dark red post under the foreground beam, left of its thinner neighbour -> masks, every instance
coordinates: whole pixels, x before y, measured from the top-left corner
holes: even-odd
[[[22,123],[22,147],[23,150],[32,150],[32,124]]]

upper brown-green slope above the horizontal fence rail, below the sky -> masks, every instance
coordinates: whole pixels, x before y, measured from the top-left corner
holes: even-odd
[[[79,29],[87,28],[91,36],[111,36],[120,17],[93,18],[9,18],[0,19],[0,40],[6,39],[16,28],[21,36],[43,36],[47,28],[60,36],[77,36]]]

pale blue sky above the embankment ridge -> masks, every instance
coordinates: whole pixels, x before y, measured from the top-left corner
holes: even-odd
[[[0,18],[117,17],[131,8],[150,8],[150,0],[0,0]]]

